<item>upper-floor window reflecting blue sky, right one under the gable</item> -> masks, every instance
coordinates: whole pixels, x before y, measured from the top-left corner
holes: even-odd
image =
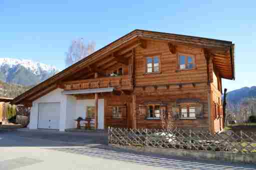
[[[179,54],[178,55],[178,69],[195,68],[195,59],[193,55]]]

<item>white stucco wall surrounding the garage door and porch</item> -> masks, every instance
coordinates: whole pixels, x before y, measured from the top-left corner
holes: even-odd
[[[59,102],[59,130],[64,131],[66,128],[74,128],[76,126],[74,119],[81,116],[85,118],[86,106],[94,106],[94,99],[76,100],[72,95],[62,94],[62,89],[57,88],[49,93],[41,96],[32,102],[30,113],[30,129],[37,128],[38,122],[38,103]],[[104,128],[104,99],[98,100],[98,128]]]

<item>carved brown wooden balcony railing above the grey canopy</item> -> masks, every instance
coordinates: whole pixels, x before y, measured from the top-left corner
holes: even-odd
[[[100,77],[84,80],[66,81],[64,82],[65,90],[90,89],[114,87],[116,89],[131,90],[132,79],[128,75]]]

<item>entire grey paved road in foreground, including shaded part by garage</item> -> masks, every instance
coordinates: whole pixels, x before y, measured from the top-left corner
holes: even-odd
[[[256,169],[249,164],[112,149],[104,144],[105,137],[103,132],[0,132],[0,169]]]

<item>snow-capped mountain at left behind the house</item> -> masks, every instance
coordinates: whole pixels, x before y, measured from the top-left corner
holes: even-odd
[[[0,80],[7,83],[35,85],[59,70],[27,59],[0,58]]]

